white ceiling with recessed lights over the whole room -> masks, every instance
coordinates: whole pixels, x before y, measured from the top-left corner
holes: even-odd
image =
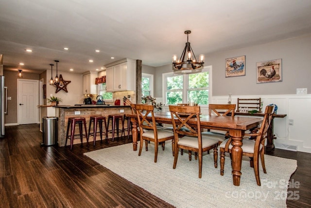
[[[185,30],[197,56],[311,34],[311,0],[1,0],[0,6],[6,70],[41,73],[58,59],[59,70],[82,73],[125,57],[162,66],[181,55]]]

